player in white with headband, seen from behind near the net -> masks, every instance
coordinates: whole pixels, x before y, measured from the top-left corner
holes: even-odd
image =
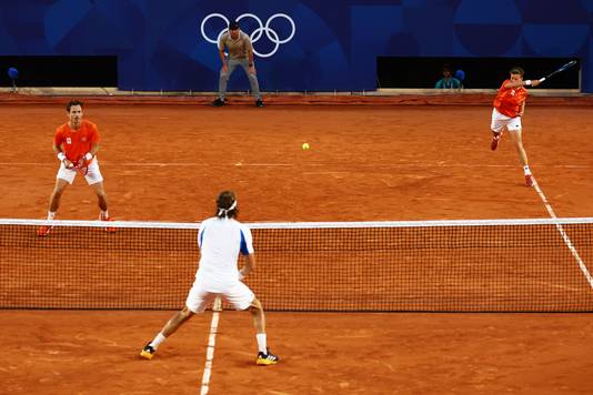
[[[159,345],[195,313],[221,296],[235,310],[248,310],[253,316],[258,341],[258,365],[274,365],[279,357],[270,353],[265,337],[265,315],[261,302],[241,280],[255,269],[253,243],[249,227],[235,220],[239,212],[234,193],[224,191],[217,199],[217,216],[203,221],[198,232],[201,259],[195,281],[188,294],[185,306],[169,320],[140,356],[151,359]],[[238,270],[239,253],[245,265]]]

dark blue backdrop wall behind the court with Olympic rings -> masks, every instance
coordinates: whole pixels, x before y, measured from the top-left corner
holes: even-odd
[[[2,1],[0,54],[118,55],[120,89],[213,91],[238,17],[264,91],[374,90],[376,57],[399,55],[575,57],[593,92],[593,0]]]

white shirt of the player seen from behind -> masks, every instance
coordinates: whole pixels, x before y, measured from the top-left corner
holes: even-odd
[[[208,284],[227,285],[239,281],[239,253],[253,253],[251,231],[233,219],[214,216],[203,221],[198,231],[198,245],[201,257],[195,278]]]

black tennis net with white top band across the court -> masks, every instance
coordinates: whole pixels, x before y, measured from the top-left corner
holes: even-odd
[[[180,308],[197,223],[0,220],[0,308]],[[270,311],[591,312],[593,219],[251,223]]]

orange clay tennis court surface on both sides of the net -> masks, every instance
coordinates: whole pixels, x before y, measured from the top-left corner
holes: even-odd
[[[200,221],[224,189],[237,192],[244,222],[550,217],[524,185],[509,136],[490,151],[488,101],[439,105],[452,99],[271,100],[264,109],[105,99],[90,100],[84,117],[99,125],[117,220]],[[66,102],[0,107],[0,217],[44,217],[58,168],[51,141],[66,122]],[[592,216],[591,103],[533,100],[523,124],[532,171],[557,216]],[[311,149],[303,151],[303,142]],[[64,193],[59,219],[97,217],[84,185],[77,180]],[[171,314],[0,311],[3,391],[197,393],[211,313],[194,317],[154,359],[138,357]],[[282,362],[262,368],[253,364],[249,315],[221,314],[210,393],[593,392],[590,313],[270,312],[268,325]]]

